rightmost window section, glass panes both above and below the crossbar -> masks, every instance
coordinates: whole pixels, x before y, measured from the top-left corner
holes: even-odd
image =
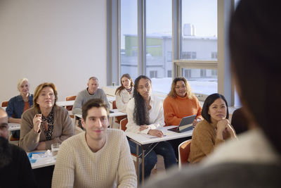
[[[197,67],[184,68],[181,76],[197,94],[218,92],[217,71],[206,69],[199,62],[217,63],[217,0],[182,0],[181,20],[181,60]]]

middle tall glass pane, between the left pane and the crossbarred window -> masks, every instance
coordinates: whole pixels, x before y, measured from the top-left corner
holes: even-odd
[[[171,0],[145,1],[145,75],[154,78],[153,92],[169,92],[163,79],[169,77],[168,70],[172,67],[171,5]],[[163,87],[155,87],[154,82],[158,81]]]

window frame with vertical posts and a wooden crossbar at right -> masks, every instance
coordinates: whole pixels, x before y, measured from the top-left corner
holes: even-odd
[[[145,3],[136,0],[138,10],[138,75],[145,75]],[[217,59],[210,61],[181,60],[181,0],[171,0],[172,8],[172,79],[181,76],[181,68],[216,69],[218,93],[223,94],[229,105],[234,104],[234,83],[230,73],[228,53],[228,23],[234,11],[234,0],[217,0],[218,50]],[[120,0],[107,0],[107,85],[119,83],[120,73]],[[211,58],[210,58],[211,59]],[[204,101],[206,95],[195,94]]]

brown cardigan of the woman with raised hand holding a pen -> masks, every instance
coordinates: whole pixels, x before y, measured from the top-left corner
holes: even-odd
[[[62,143],[65,139],[74,135],[74,127],[67,110],[60,106],[54,106],[54,125],[52,139],[46,141],[42,130],[38,133],[33,130],[33,118],[38,113],[37,108],[30,108],[22,114],[20,125],[20,147],[25,151],[33,151],[39,142],[46,142],[46,149],[51,149],[51,144]]]

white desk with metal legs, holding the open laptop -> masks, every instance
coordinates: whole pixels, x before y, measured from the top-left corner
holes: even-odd
[[[133,132],[125,132],[126,136],[129,137],[129,139],[131,139],[132,142],[135,142],[137,144],[136,146],[136,163],[139,164],[139,154],[138,154],[138,146],[141,146],[142,149],[142,155],[141,155],[141,159],[142,159],[142,163],[141,163],[141,168],[142,168],[142,182],[144,182],[144,177],[145,177],[145,165],[144,165],[144,156],[145,156],[145,145],[147,146],[147,144],[153,144],[153,143],[158,143],[158,142],[163,142],[166,140],[171,140],[171,139],[180,139],[183,137],[191,137],[192,136],[192,132],[193,130],[187,131],[187,132],[181,132],[181,133],[177,133],[177,132],[172,132],[169,131],[168,129],[173,128],[176,126],[167,126],[167,127],[162,127],[159,130],[162,130],[162,132],[165,134],[164,137],[153,137],[153,138],[149,138],[148,136],[144,135],[144,134],[140,134],[140,133],[133,133]],[[136,171],[137,171],[137,175],[138,175],[138,182],[139,182],[139,165],[136,165]]]

